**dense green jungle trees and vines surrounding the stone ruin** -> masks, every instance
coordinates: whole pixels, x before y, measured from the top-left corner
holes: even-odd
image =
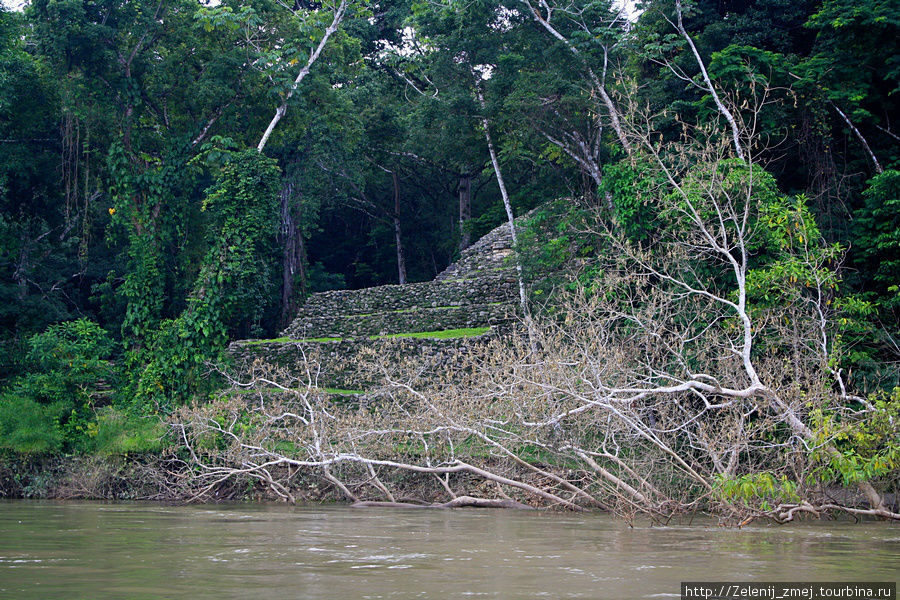
[[[504,222],[498,170],[517,216],[540,207],[521,256],[550,314],[560,289],[607,293],[599,232],[652,253],[690,238],[705,182],[755,178],[752,310],[817,282],[834,385],[894,414],[898,46],[896,0],[0,10],[0,453],[153,452],[230,340],[316,291],[429,280]],[[725,150],[673,156],[688,138]],[[846,434],[878,474],[885,423]]]

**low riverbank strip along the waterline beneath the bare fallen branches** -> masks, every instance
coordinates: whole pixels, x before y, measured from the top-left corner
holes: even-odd
[[[503,466],[494,464],[494,469]],[[505,465],[510,468],[511,465]],[[546,468],[546,465],[544,466]],[[515,467],[512,467],[515,470]],[[546,485],[532,472],[519,468],[509,473],[529,485]],[[577,473],[558,472],[552,476],[576,479]],[[571,507],[548,507],[544,499],[535,494],[511,490],[507,494],[503,487],[471,473],[460,473],[443,480],[431,475],[409,473],[402,469],[381,471],[368,480],[335,485],[323,482],[321,477],[300,472],[279,472],[273,470],[279,481],[289,482],[284,491],[291,496],[292,503],[303,505],[353,506],[367,509],[385,508],[501,508],[501,509],[562,509],[572,512]],[[375,483],[377,481],[377,483]],[[342,486],[344,489],[342,489]],[[391,491],[388,491],[388,490]],[[368,490],[368,491],[366,491]],[[449,492],[449,494],[448,494]],[[517,493],[518,492],[518,493]],[[353,494],[348,497],[348,493]],[[166,504],[216,504],[220,502],[240,502],[249,504],[284,503],[284,494],[265,481],[250,475],[234,475],[209,486],[207,479],[190,468],[188,463],[175,455],[142,456],[69,456],[31,461],[0,462],[0,499],[40,499],[64,501],[154,501]],[[829,502],[837,507],[865,509],[865,498],[853,488],[829,487],[819,490],[812,502]],[[886,504],[898,509],[896,494],[885,495]],[[578,512],[610,514],[622,522],[655,523],[668,525],[671,522],[692,522],[695,518],[713,519],[724,526],[746,526],[753,521],[772,521],[771,516],[753,514],[744,507],[729,506],[722,502],[708,501],[693,506],[672,506],[668,514],[663,512],[626,511],[623,506],[604,506],[595,502],[590,506],[578,507]],[[863,519],[854,517],[846,510],[823,511],[810,514],[802,511],[798,515],[805,521],[833,521],[835,518],[853,519],[856,523],[872,521],[871,516]],[[778,519],[774,519],[778,521]],[[793,520],[793,519],[790,519]],[[880,519],[875,519],[880,520]]]

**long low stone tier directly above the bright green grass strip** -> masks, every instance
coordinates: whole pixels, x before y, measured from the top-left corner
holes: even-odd
[[[292,339],[360,338],[482,327],[515,320],[517,308],[517,305],[504,301],[456,306],[414,306],[361,315],[321,315],[296,319],[283,335]]]

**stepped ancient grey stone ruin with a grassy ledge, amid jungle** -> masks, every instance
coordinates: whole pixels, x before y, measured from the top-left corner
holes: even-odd
[[[244,369],[254,361],[282,367],[333,394],[378,386],[363,366],[371,356],[434,370],[517,321],[512,253],[509,226],[501,225],[433,281],[313,294],[282,337],[235,342],[229,353]]]

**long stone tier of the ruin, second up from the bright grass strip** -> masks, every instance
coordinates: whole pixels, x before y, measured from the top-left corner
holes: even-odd
[[[448,279],[319,292],[309,297],[286,331],[302,328],[302,322],[308,319],[510,302],[517,294],[515,271],[509,270],[485,274],[478,279]]]

